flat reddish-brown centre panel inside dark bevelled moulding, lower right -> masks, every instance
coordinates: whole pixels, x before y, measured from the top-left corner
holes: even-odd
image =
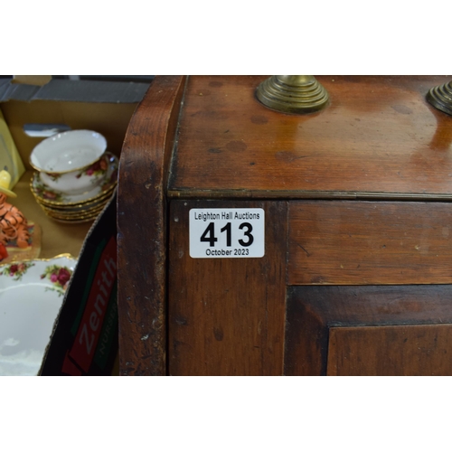
[[[452,375],[452,325],[330,328],[328,375]]]

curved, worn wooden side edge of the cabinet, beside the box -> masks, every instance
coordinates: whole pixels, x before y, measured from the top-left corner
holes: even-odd
[[[166,373],[166,174],[185,77],[157,76],[127,128],[118,174],[121,375]]]

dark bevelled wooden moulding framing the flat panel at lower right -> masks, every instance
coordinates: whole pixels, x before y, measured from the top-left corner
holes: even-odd
[[[325,375],[328,333],[334,327],[432,325],[435,330],[452,324],[451,300],[449,285],[288,287],[285,373]],[[391,347],[387,339],[381,347]],[[452,353],[448,344],[447,353]]]

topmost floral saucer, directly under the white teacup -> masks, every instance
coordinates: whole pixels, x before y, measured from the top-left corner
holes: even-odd
[[[98,197],[108,194],[108,192],[112,191],[112,189],[118,183],[119,162],[116,155],[113,155],[109,152],[106,152],[105,154],[108,155],[108,170],[104,184],[98,185],[86,193],[67,194],[53,190],[52,188],[43,184],[39,173],[35,172],[33,173],[32,182],[30,184],[35,198],[37,199],[37,201],[48,205],[67,206],[85,202],[92,202],[97,200]]]

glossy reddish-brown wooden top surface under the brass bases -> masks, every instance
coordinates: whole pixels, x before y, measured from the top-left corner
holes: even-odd
[[[190,77],[169,194],[451,197],[452,118],[425,99],[448,77],[317,79],[331,104],[287,115],[255,98],[265,77]]]

